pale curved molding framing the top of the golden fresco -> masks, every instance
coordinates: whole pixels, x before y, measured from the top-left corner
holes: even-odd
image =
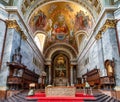
[[[64,0],[62,0],[64,1]],[[43,5],[47,5],[49,3],[54,3],[54,2],[61,2],[58,0],[35,0],[35,2],[31,3],[31,5],[29,6],[28,9],[26,9],[23,13],[24,16],[26,18],[26,21],[29,22],[31,16],[33,15],[34,11],[37,10],[39,7],[42,7]],[[94,9],[96,7],[94,7],[93,5],[91,5],[91,3],[89,3],[88,1],[83,1],[83,0],[68,0],[66,2],[72,2],[72,3],[78,3],[79,5],[82,5],[83,7],[85,7],[92,15],[94,21],[96,21],[98,12]],[[101,3],[99,2],[99,5],[101,5]],[[102,7],[102,6],[100,6]],[[22,8],[21,8],[22,9]]]

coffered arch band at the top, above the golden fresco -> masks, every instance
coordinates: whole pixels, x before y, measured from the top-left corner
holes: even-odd
[[[52,2],[72,2],[85,7],[97,19],[102,9],[101,0],[23,0],[21,11],[28,20],[31,13],[38,7]]]

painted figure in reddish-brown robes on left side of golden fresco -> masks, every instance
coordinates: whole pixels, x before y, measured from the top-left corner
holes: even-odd
[[[34,18],[36,29],[43,29],[46,25],[46,15],[40,10],[38,15]]]

